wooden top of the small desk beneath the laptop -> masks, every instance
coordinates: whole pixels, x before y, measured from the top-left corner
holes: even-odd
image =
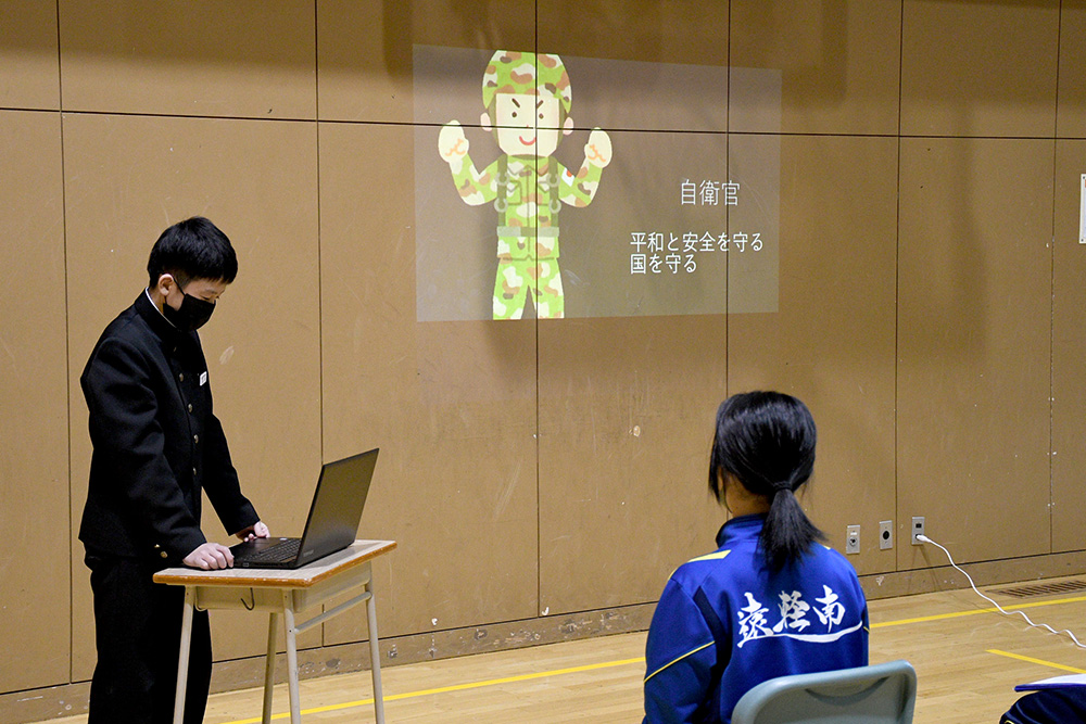
[[[194,568],[167,568],[154,574],[154,582],[175,586],[308,588],[387,554],[395,547],[395,541],[355,541],[339,552],[292,570],[227,568],[201,571]]]

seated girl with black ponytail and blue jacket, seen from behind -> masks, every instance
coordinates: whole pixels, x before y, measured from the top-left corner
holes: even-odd
[[[653,615],[645,722],[731,722],[776,676],[868,663],[868,609],[851,564],[820,545],[796,492],[815,420],[795,397],[750,392],[717,411],[709,490],[732,518],[717,550],[679,567]]]

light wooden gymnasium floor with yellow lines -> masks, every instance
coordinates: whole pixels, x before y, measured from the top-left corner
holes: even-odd
[[[1086,640],[1086,576],[1043,583],[1064,589],[1025,598],[993,593],[1021,587],[1014,584],[982,590]],[[996,613],[970,589],[871,601],[870,611],[872,663],[908,659],[917,669],[919,724],[996,724],[1019,696],[1015,684],[1086,673],[1086,649]],[[644,633],[622,634],[387,668],[386,717],[390,724],[640,722],[644,645]],[[370,696],[368,672],[304,681],[303,720],[371,722]],[[261,700],[258,689],[214,695],[204,721],[260,722]],[[285,686],[276,687],[275,711],[275,721],[288,719]]]

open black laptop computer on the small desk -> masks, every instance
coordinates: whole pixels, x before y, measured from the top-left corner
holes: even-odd
[[[354,543],[378,448],[320,467],[310,517],[300,538],[254,538],[230,548],[235,568],[293,569]]]

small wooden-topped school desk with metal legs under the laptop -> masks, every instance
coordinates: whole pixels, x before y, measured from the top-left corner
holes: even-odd
[[[181,619],[181,651],[177,662],[177,695],[174,700],[174,724],[181,724],[185,714],[185,685],[189,671],[189,646],[192,638],[192,611],[205,609],[245,609],[269,611],[267,660],[264,670],[264,724],[272,721],[272,690],[275,684],[276,628],[283,617],[287,637],[287,681],[290,687],[290,721],[302,721],[298,699],[296,634],[366,601],[369,619],[369,659],[374,676],[374,709],[377,724],[384,723],[384,701],[381,697],[381,660],[377,647],[377,609],[370,561],[396,547],[394,541],[355,541],[343,550],[292,571],[255,568],[228,568],[201,571],[191,568],[167,568],[154,574],[155,583],[185,586],[185,612]],[[362,593],[357,593],[358,588]],[[334,596],[355,592],[356,595],[333,608],[296,623],[294,614],[319,606]]]

